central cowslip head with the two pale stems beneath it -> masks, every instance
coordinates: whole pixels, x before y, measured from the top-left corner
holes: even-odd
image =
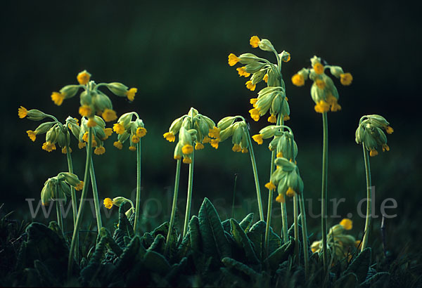
[[[188,176],[188,194],[186,199],[186,212],[184,219],[184,231],[183,237],[188,232],[188,221],[191,216],[191,202],[192,202],[192,190],[193,190],[193,150],[201,150],[204,148],[204,143],[210,143],[213,148],[218,148],[219,143],[219,129],[215,126],[215,123],[203,114],[200,114],[198,110],[191,107],[188,114],[175,119],[170,125],[168,132],[163,134],[163,137],[169,142],[174,142],[176,135],[179,133],[179,142],[174,148],[174,159],[179,162],[183,157],[183,163],[189,164],[189,176]],[[178,164],[179,165],[179,164]],[[176,178],[178,179],[179,169],[176,171]],[[176,183],[179,186],[179,181]],[[177,197],[179,187],[174,187],[174,198]],[[174,216],[176,210],[177,199],[173,199],[172,216],[170,216],[170,225],[167,234],[167,249],[168,241],[170,240],[170,233],[172,233],[174,225]]]

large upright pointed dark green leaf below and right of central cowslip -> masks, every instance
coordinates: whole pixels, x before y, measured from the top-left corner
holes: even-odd
[[[203,240],[203,250],[206,256],[221,259],[231,255],[231,249],[220,218],[211,204],[205,197],[199,209],[199,231]],[[192,242],[193,244],[193,242]]]

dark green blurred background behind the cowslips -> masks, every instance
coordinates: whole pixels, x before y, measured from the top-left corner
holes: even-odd
[[[252,35],[270,39],[276,49],[291,54],[283,65],[283,77],[290,103],[290,121],[298,143],[298,166],[305,182],[309,211],[319,214],[321,190],[321,114],[314,112],[307,81],[295,87],[290,78],[309,58],[318,55],[328,64],[340,65],[353,75],[351,86],[341,86],[340,112],[328,114],[329,164],[328,197],[345,198],[339,204],[334,225],[352,214],[352,235],[362,237],[364,218],[357,204],[365,197],[362,147],[354,143],[354,131],[364,114],[381,114],[395,132],[388,136],[390,152],[371,158],[372,182],[376,187],[375,213],[381,214],[384,199],[393,198],[397,208],[388,214],[387,244],[402,237],[421,240],[417,219],[421,218],[421,129],[418,100],[421,97],[418,69],[421,67],[421,20],[418,7],[397,5],[397,1],[227,1],[226,3],[185,3],[174,1],[6,1],[2,3],[1,49],[1,198],[2,213],[14,211],[15,218],[32,221],[27,198],[34,209],[44,181],[66,171],[60,150],[41,150],[44,137],[32,141],[25,131],[39,123],[18,118],[18,107],[39,109],[64,122],[78,117],[78,97],[56,106],[51,92],[77,82],[77,73],[87,70],[99,82],[121,81],[137,87],[133,103],[108,93],[117,114],[136,111],[148,134],[142,139],[143,229],[148,230],[170,217],[174,172],[174,143],[162,138],[173,119],[190,107],[216,123],[229,115],[243,115],[251,134],[267,126],[267,117],[250,119],[249,98],[257,90],[245,88],[245,78],[229,67],[229,53],[256,53],[275,62],[274,55],[249,45]],[[112,124],[109,124],[111,126]],[[116,135],[106,141],[106,154],[94,155],[100,198],[124,196],[134,199],[135,153],[124,145],[113,147]],[[72,139],[75,140],[75,139]],[[267,207],[269,141],[255,145],[264,209]],[[83,178],[84,150],[72,142],[75,173]],[[238,175],[234,216],[243,218],[257,212],[255,184],[248,155],[231,151],[230,140],[218,150],[206,145],[196,153],[192,214],[197,214],[204,197],[210,198],[220,216],[231,217],[234,175]],[[178,225],[184,221],[187,165],[182,167],[179,189]],[[91,191],[89,191],[91,193]],[[68,202],[69,203],[69,202]],[[391,203],[389,203],[391,204]],[[281,229],[279,206],[274,205],[273,226]],[[278,208],[278,209],[277,209]],[[292,207],[288,202],[289,223]],[[364,207],[362,208],[364,211]],[[328,214],[333,214],[328,205]],[[48,223],[41,210],[34,220]],[[71,213],[70,213],[71,214]],[[71,228],[71,215],[66,223]],[[258,214],[255,213],[255,220]],[[117,209],[103,222],[111,227]],[[86,216],[86,225],[94,224]],[[317,217],[308,215],[312,240],[320,237]],[[373,244],[379,241],[381,217],[373,221]],[[405,224],[405,225],[404,225]],[[95,225],[94,225],[95,226]],[[379,247],[379,242],[378,242]]]

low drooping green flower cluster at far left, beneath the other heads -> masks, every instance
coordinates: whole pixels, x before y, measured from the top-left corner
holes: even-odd
[[[82,190],[84,181],[79,181],[75,174],[61,172],[56,177],[49,178],[41,190],[41,202],[44,206],[50,204],[51,199],[60,199],[66,202],[66,196],[70,196],[70,186],[75,190]]]

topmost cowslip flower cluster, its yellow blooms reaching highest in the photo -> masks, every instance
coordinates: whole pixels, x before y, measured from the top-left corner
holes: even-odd
[[[270,123],[276,123],[276,116],[278,114],[283,115],[284,120],[288,120],[290,109],[281,75],[281,63],[290,60],[290,53],[286,51],[277,53],[268,39],[260,39],[257,36],[250,38],[250,45],[253,48],[259,47],[263,51],[271,51],[277,58],[277,64],[273,64],[269,60],[259,58],[252,53],[245,53],[240,56],[236,56],[233,53],[229,55],[230,66],[236,65],[236,63],[245,65],[236,69],[239,76],[249,77],[252,74],[250,80],[246,82],[246,87],[250,91],[255,91],[256,85],[261,81],[267,83],[267,87],[258,93],[257,98],[250,99],[250,103],[253,106],[249,111],[250,117],[258,121],[260,117],[269,111],[270,116],[268,117],[268,122]]]

